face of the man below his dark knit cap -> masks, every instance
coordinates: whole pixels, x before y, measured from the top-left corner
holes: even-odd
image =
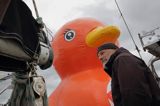
[[[115,51],[116,49],[104,49],[98,53],[98,58],[101,60],[103,67],[105,67],[105,64],[108,62],[109,58]]]

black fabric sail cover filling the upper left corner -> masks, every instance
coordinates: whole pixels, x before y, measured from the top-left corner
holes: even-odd
[[[0,0],[0,70],[25,69],[37,57],[39,26],[22,0]]]

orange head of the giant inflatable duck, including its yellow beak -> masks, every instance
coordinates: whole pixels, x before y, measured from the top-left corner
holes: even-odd
[[[105,42],[116,42],[120,31],[91,18],[68,22],[55,34],[52,47],[53,65],[64,77],[89,69],[102,68],[96,48]]]

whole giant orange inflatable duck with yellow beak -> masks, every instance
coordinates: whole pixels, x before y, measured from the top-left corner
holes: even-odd
[[[91,18],[68,22],[53,40],[53,65],[61,78],[49,106],[111,106],[110,77],[97,58],[96,47],[116,42],[117,27]],[[108,94],[107,94],[108,93]]]

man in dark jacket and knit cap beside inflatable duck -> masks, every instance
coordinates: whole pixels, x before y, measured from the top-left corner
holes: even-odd
[[[97,55],[112,78],[114,106],[160,106],[159,86],[142,59],[113,43],[98,47]]]

